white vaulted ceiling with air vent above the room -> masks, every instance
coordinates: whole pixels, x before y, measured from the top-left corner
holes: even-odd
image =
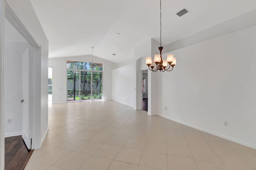
[[[48,38],[49,57],[88,55],[94,46],[94,55],[119,63],[134,57],[134,46],[149,38],[160,41],[159,0],[30,1]],[[190,12],[178,17],[184,7]],[[162,0],[162,42],[254,9],[256,0]]]

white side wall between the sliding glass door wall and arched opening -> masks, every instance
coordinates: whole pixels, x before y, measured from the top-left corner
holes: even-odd
[[[134,65],[112,70],[112,100],[134,106]]]

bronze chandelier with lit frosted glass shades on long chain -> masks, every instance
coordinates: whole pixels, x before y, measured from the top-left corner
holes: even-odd
[[[151,57],[146,57],[146,65],[148,65],[148,69],[153,72],[158,70],[164,71],[172,71],[173,67],[176,65],[176,57],[173,54],[168,54],[167,59],[162,59],[162,4],[160,0],[160,47],[158,47],[160,54],[154,55],[154,62],[152,62]],[[168,66],[169,65],[169,66]]]

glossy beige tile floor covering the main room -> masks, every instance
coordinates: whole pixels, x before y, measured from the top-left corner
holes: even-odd
[[[256,150],[114,101],[49,105],[25,170],[256,170]]]

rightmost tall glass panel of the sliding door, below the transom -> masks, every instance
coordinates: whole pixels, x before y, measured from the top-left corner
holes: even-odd
[[[102,72],[92,73],[92,99],[102,99]]]

